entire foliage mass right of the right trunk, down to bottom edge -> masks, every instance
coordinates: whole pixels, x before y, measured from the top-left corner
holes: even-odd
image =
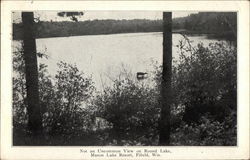
[[[237,48],[220,42],[180,51],[172,112],[181,109],[173,116],[182,121],[173,128],[173,145],[236,145]]]

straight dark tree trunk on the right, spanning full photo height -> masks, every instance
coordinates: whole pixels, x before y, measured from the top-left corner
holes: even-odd
[[[159,145],[170,143],[170,105],[172,76],[172,12],[163,12],[163,71],[162,71],[162,108],[160,119]]]

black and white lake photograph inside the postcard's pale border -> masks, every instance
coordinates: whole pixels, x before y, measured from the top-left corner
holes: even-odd
[[[13,11],[13,146],[237,146],[237,12]]]

